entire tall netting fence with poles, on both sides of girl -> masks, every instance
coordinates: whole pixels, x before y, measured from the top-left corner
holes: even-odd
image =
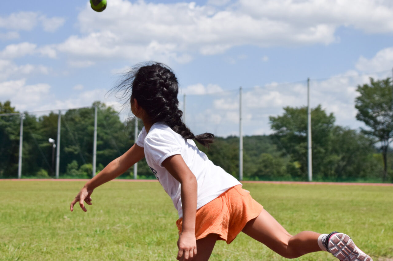
[[[375,91],[374,99],[383,100],[384,113],[378,114],[376,107],[368,111],[382,115],[377,118],[382,117],[392,129],[391,76],[390,70],[362,75],[348,72],[327,79],[272,82],[229,91],[217,92],[215,86],[215,92],[180,93],[179,107],[194,134],[215,134],[209,149],[198,146],[236,178],[391,182],[392,150],[387,146],[384,154],[385,143],[364,132],[371,128],[356,119],[359,111],[355,108],[361,95],[359,86],[385,80],[384,92]],[[126,152],[143,127],[139,121],[135,129],[134,118],[121,116],[100,102],[45,112],[0,109],[0,178],[90,178]],[[135,178],[136,174],[154,178],[145,160],[120,178]]]

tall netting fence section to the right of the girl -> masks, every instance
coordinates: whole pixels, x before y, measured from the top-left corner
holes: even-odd
[[[217,137],[209,150],[201,149],[239,179],[391,182],[393,154],[389,149],[384,174],[381,143],[361,131],[369,127],[356,120],[355,108],[359,85],[370,84],[370,77],[377,81],[391,74],[390,70],[363,75],[349,72],[327,79],[186,94],[179,96],[180,107],[195,134],[211,132]],[[392,87],[390,82],[389,104]]]

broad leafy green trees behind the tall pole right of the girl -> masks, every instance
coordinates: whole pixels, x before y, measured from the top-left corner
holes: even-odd
[[[277,147],[289,156],[286,171],[292,179],[307,178],[307,107],[285,107],[281,116],[270,117]],[[373,139],[334,125],[334,115],[318,105],[311,110],[313,178],[325,181],[367,179],[380,167],[373,157]]]

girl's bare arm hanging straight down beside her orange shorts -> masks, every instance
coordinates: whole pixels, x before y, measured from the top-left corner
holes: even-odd
[[[178,240],[177,259],[192,260],[196,255],[195,216],[198,183],[181,155],[165,159],[162,165],[180,182],[183,206],[183,227]]]

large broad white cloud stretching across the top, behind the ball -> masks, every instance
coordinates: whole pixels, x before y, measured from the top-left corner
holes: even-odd
[[[338,41],[334,34],[340,26],[393,32],[393,9],[376,1],[356,8],[349,0],[239,0],[226,7],[211,6],[225,4],[227,0],[211,0],[208,5],[112,0],[100,14],[86,4],[78,16],[82,34],[70,37],[59,50],[100,59],[166,57],[186,63],[195,53],[219,54],[244,44],[331,44]]]

